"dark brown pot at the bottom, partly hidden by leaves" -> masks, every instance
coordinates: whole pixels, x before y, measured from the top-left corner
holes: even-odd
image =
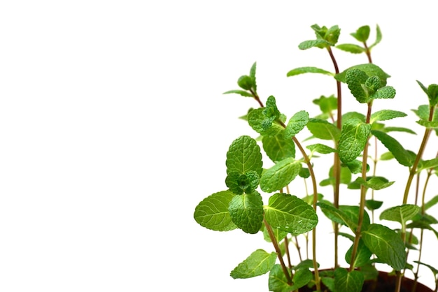
[[[393,292],[395,290],[395,275],[389,274],[388,272],[379,271],[379,276],[376,280],[367,280],[365,281],[362,292]],[[407,277],[403,277],[402,279],[402,287],[400,292],[434,292],[428,286],[425,286],[419,282],[416,283],[416,290],[412,291],[415,282],[413,279],[409,279]],[[302,287],[299,289],[299,292],[313,292],[314,286]],[[327,287],[321,283],[321,291],[329,291]]]

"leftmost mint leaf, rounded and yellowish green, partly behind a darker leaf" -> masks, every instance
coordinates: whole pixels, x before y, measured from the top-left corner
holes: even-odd
[[[205,228],[213,231],[231,231],[236,229],[229,215],[228,205],[234,198],[231,191],[219,191],[199,203],[195,208],[195,220]]]

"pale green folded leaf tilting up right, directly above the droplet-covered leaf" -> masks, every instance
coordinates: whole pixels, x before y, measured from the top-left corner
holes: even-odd
[[[267,193],[278,191],[292,182],[301,168],[301,163],[293,158],[278,161],[274,166],[264,171],[260,179],[260,188]]]

